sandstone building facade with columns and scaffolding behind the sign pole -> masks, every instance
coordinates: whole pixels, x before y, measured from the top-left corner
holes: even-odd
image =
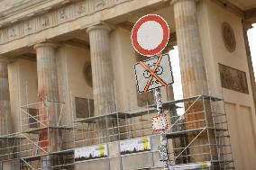
[[[169,163],[256,168],[256,85],[246,33],[256,21],[254,0],[0,4],[0,169],[162,168],[159,136],[151,131],[153,94],[137,94],[133,64],[142,57],[130,40],[134,22],[148,13],[169,22],[165,52],[176,45],[179,51],[184,100],[173,101],[172,88],[162,88]],[[190,116],[178,116],[178,103]],[[144,150],[122,151],[134,139]],[[78,157],[83,149],[89,158]]]

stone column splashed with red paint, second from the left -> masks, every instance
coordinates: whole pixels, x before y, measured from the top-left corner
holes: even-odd
[[[37,59],[38,95],[41,102],[39,106],[41,128],[45,127],[44,125],[48,127],[58,126],[59,89],[56,48],[57,46],[52,43],[40,43],[34,46]],[[46,129],[40,132],[41,148],[49,152],[59,150],[60,139],[59,130]],[[44,161],[42,162],[43,169],[48,169],[49,164],[53,164],[49,157],[43,157],[42,160]]]

